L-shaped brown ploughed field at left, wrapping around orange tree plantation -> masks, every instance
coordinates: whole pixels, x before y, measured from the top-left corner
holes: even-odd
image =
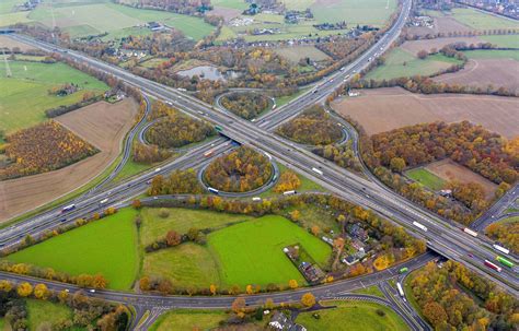
[[[0,222],[65,196],[100,175],[119,155],[137,108],[127,98],[114,105],[100,102],[55,118],[101,152],[59,170],[0,181]]]

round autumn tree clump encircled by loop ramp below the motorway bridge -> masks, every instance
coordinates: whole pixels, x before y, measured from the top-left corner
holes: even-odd
[[[204,180],[226,192],[245,192],[265,185],[273,176],[268,158],[249,146],[240,146],[215,159],[204,172]]]

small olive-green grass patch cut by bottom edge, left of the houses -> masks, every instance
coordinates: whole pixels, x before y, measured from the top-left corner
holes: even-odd
[[[222,310],[176,309],[162,315],[149,329],[150,331],[193,331],[211,330],[227,320]]]

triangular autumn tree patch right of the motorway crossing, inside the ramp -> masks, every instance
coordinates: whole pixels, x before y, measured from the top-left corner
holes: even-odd
[[[280,126],[276,133],[311,145],[331,144],[343,135],[341,127],[319,105],[304,109],[298,117]]]

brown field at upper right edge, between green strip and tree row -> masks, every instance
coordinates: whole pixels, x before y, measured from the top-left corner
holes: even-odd
[[[445,73],[434,78],[436,82],[460,84],[486,88],[506,87],[519,92],[519,66],[512,59],[471,59],[465,67],[453,73]]]

